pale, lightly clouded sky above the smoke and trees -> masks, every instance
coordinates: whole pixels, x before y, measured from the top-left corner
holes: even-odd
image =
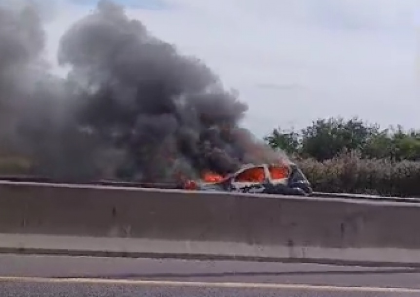
[[[46,4],[46,55],[63,73],[59,37],[96,1],[36,1]],[[331,116],[420,128],[420,0],[116,2],[237,90],[256,135]]]

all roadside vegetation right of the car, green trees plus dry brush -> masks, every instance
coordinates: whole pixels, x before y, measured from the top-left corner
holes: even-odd
[[[420,132],[358,118],[318,120],[265,140],[286,151],[316,191],[420,196]]]

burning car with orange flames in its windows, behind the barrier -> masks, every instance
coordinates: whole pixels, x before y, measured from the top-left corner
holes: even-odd
[[[247,165],[227,176],[208,172],[199,181],[187,182],[185,189],[299,196],[312,193],[309,181],[294,163]]]

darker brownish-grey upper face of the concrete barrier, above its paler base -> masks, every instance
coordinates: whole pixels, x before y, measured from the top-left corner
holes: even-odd
[[[0,183],[0,233],[420,248],[420,206]]]

